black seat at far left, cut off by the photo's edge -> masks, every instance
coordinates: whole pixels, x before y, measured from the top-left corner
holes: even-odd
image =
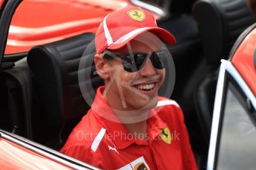
[[[8,60],[4,58],[0,75],[0,128],[32,140],[31,72],[26,58],[16,62]]]

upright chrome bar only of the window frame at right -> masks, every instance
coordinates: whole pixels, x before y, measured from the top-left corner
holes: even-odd
[[[220,109],[221,109],[221,103],[223,100],[222,97],[223,97],[225,70],[226,70],[225,64],[224,63],[220,64],[220,72],[218,76],[216,94],[215,94],[215,100],[214,100],[213,118],[211,123],[211,138],[210,138],[209,154],[208,154],[208,160],[207,160],[207,170],[211,170],[214,167],[215,148],[217,143],[217,130],[220,123]]]

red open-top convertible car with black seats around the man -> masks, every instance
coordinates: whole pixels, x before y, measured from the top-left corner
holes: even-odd
[[[256,20],[246,0],[0,0],[0,169],[97,169],[59,149],[103,83],[95,31],[126,6],[151,11],[177,39],[175,85],[164,89],[173,92],[160,95],[182,107],[198,168],[254,169]]]

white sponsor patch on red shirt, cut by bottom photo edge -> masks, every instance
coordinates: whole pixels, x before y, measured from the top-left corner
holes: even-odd
[[[148,164],[145,162],[144,157],[139,157],[137,160],[122,166],[119,170],[150,170]]]

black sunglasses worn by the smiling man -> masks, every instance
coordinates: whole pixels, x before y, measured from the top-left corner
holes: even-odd
[[[127,72],[137,72],[145,65],[147,58],[150,58],[152,65],[156,69],[164,69],[165,64],[167,64],[166,59],[171,57],[171,51],[168,49],[160,50],[157,52],[131,52],[125,54],[114,54],[108,50],[104,52],[104,58],[121,58],[122,66]]]

